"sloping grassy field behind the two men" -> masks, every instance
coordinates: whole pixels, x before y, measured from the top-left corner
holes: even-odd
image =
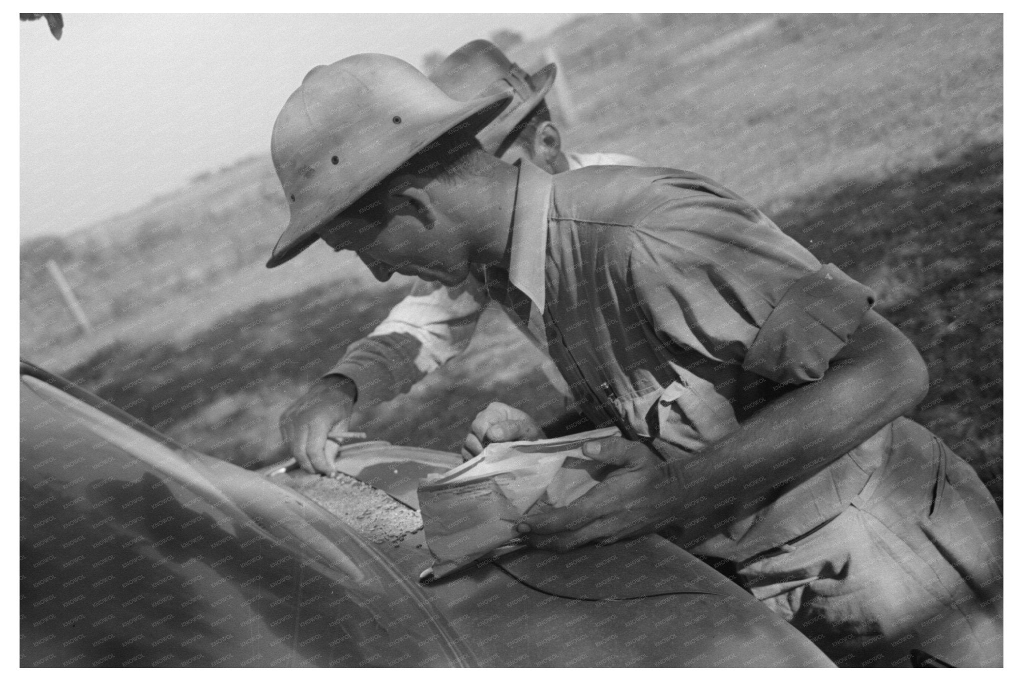
[[[999,16],[589,16],[516,58],[548,45],[578,117],[569,148],[708,175],[872,286],[929,366],[931,392],[913,416],[1000,495]],[[177,232],[144,261],[168,277],[191,267],[191,284],[149,287],[155,274],[122,271],[96,250],[88,272],[101,286],[90,289],[84,269],[74,281],[96,309],[104,295],[143,302],[108,313],[91,338],[57,324],[57,307],[33,309],[45,282],[23,264],[23,352],[204,451],[247,466],[283,455],[279,414],[408,283],[380,285],[325,248],[262,270],[282,215],[266,181],[257,159],[157,202],[153,214],[173,217]],[[218,269],[202,248],[176,250],[174,234],[201,229],[188,215],[207,215],[201,227],[216,229],[202,243],[233,259]],[[130,240],[146,220],[155,218],[124,216],[110,239]],[[72,255],[97,237],[75,239]],[[546,418],[560,397],[541,359],[488,311],[465,353],[357,427],[452,450],[493,399]]]

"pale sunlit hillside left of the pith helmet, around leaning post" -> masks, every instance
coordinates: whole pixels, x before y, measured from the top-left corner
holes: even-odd
[[[218,319],[324,282],[379,285],[317,244],[303,267],[264,266],[287,207],[269,155],[196,178],[63,239],[21,244],[21,355],[57,371],[114,342],[184,340]],[[54,259],[95,329],[83,336],[46,270]],[[407,286],[396,278],[387,286]]]

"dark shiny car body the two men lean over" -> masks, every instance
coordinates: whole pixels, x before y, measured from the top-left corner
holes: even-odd
[[[374,544],[271,479],[293,474],[181,447],[26,362],[20,393],[23,667],[832,666],[659,537],[422,585],[421,532]],[[406,500],[451,456],[345,455]]]

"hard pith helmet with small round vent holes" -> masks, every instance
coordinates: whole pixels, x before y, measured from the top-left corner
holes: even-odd
[[[505,92],[456,101],[384,54],[310,70],[273,125],[270,153],[291,222],[266,266],[308,248],[318,229],[431,142],[462,126],[481,130],[508,101]]]

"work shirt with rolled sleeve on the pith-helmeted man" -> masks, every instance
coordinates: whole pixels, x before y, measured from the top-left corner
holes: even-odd
[[[487,270],[484,292],[546,349],[595,425],[694,456],[822,377],[874,300],[693,173],[549,176],[523,161],[514,214],[510,265]],[[849,504],[890,445],[886,426],[691,550],[743,561],[809,532]]]

